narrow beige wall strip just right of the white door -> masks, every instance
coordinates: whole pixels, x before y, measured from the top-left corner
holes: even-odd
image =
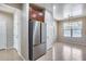
[[[7,15],[7,48],[13,48],[13,15]]]

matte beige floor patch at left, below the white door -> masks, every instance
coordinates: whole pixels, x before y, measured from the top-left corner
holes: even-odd
[[[0,61],[23,61],[14,49],[0,50]]]

